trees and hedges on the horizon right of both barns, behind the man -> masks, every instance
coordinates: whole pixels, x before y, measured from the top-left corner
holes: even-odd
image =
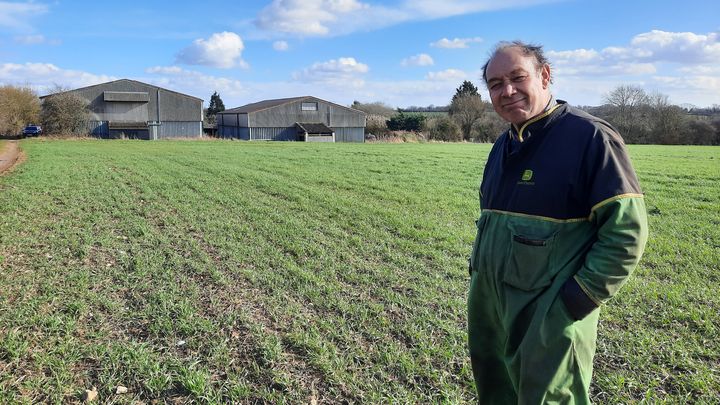
[[[664,94],[629,85],[617,86],[603,101],[601,106],[579,108],[608,121],[628,144],[720,145],[720,105],[681,107]],[[351,107],[368,114],[367,132],[380,137],[413,131],[441,141],[493,142],[508,125],[467,80],[447,106],[393,109],[355,101]]]

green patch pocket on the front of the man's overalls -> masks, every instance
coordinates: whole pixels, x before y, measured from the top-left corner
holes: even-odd
[[[503,282],[525,291],[550,285],[555,272],[551,266],[557,232],[509,224],[510,258]]]

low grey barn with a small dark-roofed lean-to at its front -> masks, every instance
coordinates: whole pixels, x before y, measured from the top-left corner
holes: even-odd
[[[365,113],[316,97],[265,100],[219,112],[218,136],[244,140],[364,142]]]

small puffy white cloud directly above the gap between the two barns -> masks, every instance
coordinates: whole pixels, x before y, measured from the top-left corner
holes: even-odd
[[[229,69],[247,67],[241,59],[245,49],[242,38],[234,32],[215,33],[208,39],[196,39],[177,54],[176,61],[188,65],[204,65]]]

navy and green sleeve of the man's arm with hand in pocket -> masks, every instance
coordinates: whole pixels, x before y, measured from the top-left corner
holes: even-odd
[[[574,277],[560,291],[575,319],[612,298],[637,266],[648,238],[642,191],[622,139],[601,127],[587,159],[589,220],[597,238]]]

